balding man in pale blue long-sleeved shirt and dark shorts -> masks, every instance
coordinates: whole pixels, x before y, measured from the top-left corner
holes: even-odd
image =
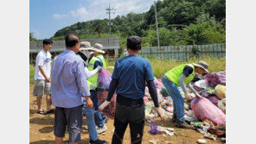
[[[81,140],[82,97],[86,98],[86,108],[93,109],[84,63],[76,56],[80,49],[80,37],[76,34],[67,34],[65,43],[67,49],[54,58],[51,71],[52,102],[56,107],[54,114],[56,144],[62,143],[66,127],[69,143],[77,143]]]

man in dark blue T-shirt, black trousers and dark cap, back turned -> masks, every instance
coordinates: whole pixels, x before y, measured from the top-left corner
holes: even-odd
[[[139,144],[142,142],[145,117],[143,99],[145,82],[148,84],[150,96],[157,113],[161,116],[163,122],[166,118],[164,110],[158,103],[157,89],[153,81],[150,62],[138,56],[141,48],[140,37],[131,35],[127,38],[126,49],[129,55],[116,61],[108,96],[106,101],[99,106],[99,110],[104,110],[116,91],[115,130],[112,136],[112,144],[123,143],[125,129],[128,124],[131,130],[131,143]]]

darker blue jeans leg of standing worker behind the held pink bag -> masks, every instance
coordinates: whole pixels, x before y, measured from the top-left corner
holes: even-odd
[[[99,128],[102,128],[105,126],[105,122],[102,118],[102,113],[98,111],[99,109],[99,99],[97,96],[96,91],[90,91],[91,92],[91,99],[93,101],[93,110],[94,110],[94,119],[95,123]]]

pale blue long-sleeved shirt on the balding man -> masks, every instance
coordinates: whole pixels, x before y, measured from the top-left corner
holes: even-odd
[[[90,96],[83,60],[66,49],[54,58],[51,71],[51,94],[54,106],[73,108]]]

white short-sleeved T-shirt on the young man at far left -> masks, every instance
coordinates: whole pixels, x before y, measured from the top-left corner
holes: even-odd
[[[50,78],[51,73],[51,60],[52,55],[49,52],[45,52],[43,49],[37,53],[36,59],[35,59],[35,80],[36,79],[45,79],[42,75],[42,73],[39,70],[38,66],[42,66],[44,72]]]

